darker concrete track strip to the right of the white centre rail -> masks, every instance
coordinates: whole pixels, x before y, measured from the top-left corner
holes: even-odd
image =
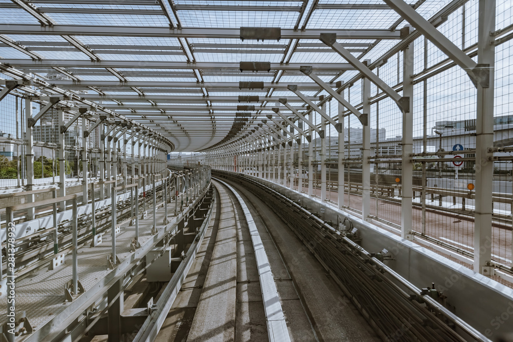
[[[380,340],[319,261],[268,204],[240,184],[229,179],[226,182],[242,194],[260,231],[278,280],[291,339]]]

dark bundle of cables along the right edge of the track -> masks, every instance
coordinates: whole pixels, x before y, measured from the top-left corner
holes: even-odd
[[[284,195],[252,179],[217,172],[272,206],[317,257],[327,272],[384,340],[486,340],[453,315],[430,290],[412,286],[377,255],[363,250],[354,236],[337,231]],[[356,241],[356,242],[355,242]]]

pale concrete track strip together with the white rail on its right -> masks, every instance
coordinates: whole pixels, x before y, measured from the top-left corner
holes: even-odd
[[[253,218],[231,187],[213,184],[215,218],[156,340],[290,340]]]

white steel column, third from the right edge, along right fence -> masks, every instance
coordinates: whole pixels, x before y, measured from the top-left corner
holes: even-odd
[[[369,117],[370,113],[370,80],[367,77],[363,78],[362,113]],[[362,219],[365,221],[370,220],[370,125],[362,125]]]

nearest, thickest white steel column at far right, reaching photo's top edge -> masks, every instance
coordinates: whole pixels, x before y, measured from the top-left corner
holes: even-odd
[[[478,76],[487,80],[478,82],[476,113],[476,210],[474,228],[474,271],[490,276],[492,180],[494,163],[488,149],[494,147],[494,76],[496,17],[495,0],[479,0]]]

